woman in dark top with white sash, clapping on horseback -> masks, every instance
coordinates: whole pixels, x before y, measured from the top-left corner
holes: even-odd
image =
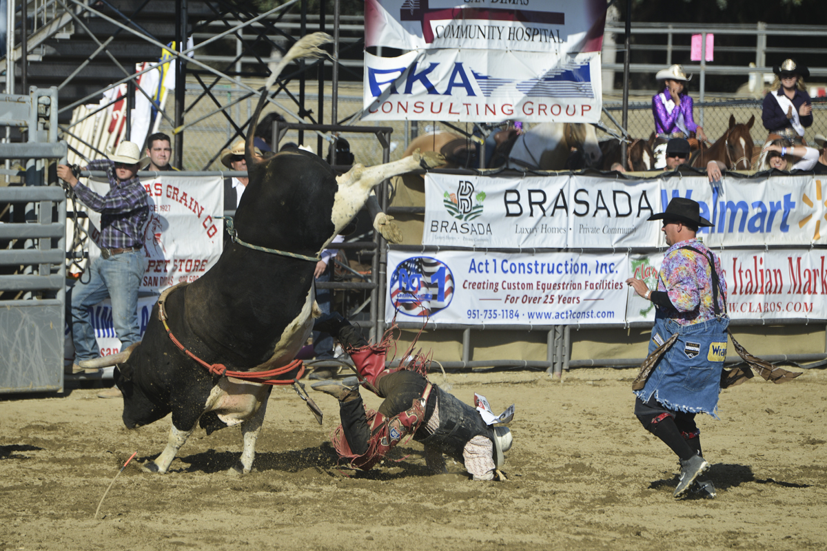
[[[794,59],[785,59],[772,72],[776,78],[771,92],[764,96],[761,113],[764,128],[769,131],[767,142],[786,138],[793,144],[805,145],[804,129],[813,124],[813,106],[804,83],[810,69],[796,64]]]

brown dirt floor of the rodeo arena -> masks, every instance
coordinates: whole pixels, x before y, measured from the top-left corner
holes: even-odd
[[[0,396],[0,550],[11,549],[825,549],[827,371],[724,391],[700,420],[715,500],[675,501],[676,459],[638,424],[634,370],[577,369],[562,382],[513,371],[433,375],[464,401],[512,402],[508,482],[425,476],[422,447],[370,473],[337,467],[292,390],[270,397],[254,472],[227,474],[240,433],[198,430],[167,475],[124,470],[163,449],[169,418],[138,430],[121,401],[74,389]],[[372,398],[372,397],[371,397]],[[370,400],[378,405],[378,400]]]

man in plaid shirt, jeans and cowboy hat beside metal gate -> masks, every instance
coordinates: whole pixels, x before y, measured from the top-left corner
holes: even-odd
[[[101,213],[101,256],[89,266],[88,281],[81,278],[72,290],[73,373],[84,371],[78,363],[100,355],[90,309],[107,297],[112,300],[112,324],[122,349],[141,340],[137,302],[146,268],[141,254],[142,230],[150,216],[149,198],[137,176],[141,164],[146,164],[146,157],[141,158],[140,148],[131,141],[122,141],[112,159],[89,163],[88,170],[108,173],[110,189],[103,197],[79,183],[68,166],[58,166],[58,176],[69,183],[80,201]],[[119,395],[112,393],[112,397]]]

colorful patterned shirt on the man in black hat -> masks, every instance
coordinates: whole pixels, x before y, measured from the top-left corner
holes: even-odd
[[[661,308],[662,315],[681,325],[692,325],[715,318],[710,262],[708,257],[705,259],[695,251],[681,249],[687,245],[705,255],[710,253],[710,249],[697,238],[681,241],[667,249],[661,271],[657,274],[657,291],[666,291],[673,305]],[[718,304],[723,314],[726,303],[726,278],[717,254],[715,272],[720,280]]]

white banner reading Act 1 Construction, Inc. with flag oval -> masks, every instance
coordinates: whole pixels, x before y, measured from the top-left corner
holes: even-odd
[[[481,325],[624,321],[625,254],[390,250],[385,320]]]

